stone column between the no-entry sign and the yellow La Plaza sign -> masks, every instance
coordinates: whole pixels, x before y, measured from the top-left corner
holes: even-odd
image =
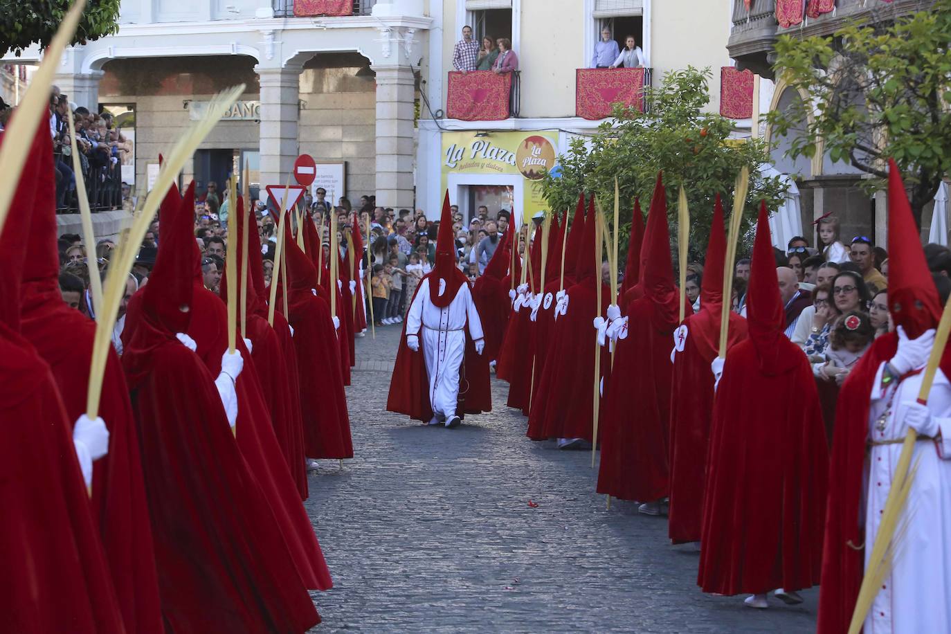
[[[408,66],[372,68],[377,73],[377,204],[412,208],[413,71]]]

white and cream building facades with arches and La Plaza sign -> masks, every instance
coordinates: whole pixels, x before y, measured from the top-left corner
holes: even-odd
[[[710,67],[713,111],[720,68],[731,66],[730,0],[352,0],[343,4],[353,15],[296,15],[315,2],[123,0],[118,32],[69,48],[56,84],[77,106],[117,116],[134,138],[124,178],[137,188],[213,94],[244,84],[185,166],[200,190],[245,165],[252,185],[282,185],[308,153],[343,165],[328,198],[376,194],[378,205],[434,216],[446,188],[466,213],[531,205],[537,173],[514,168],[518,148],[528,148],[523,163],[550,167],[601,123],[575,116],[575,88],[603,27],[622,43],[634,35],[654,85],[673,69]],[[512,40],[516,116],[448,117],[448,73],[466,25]],[[4,62],[37,58],[28,50]],[[750,120],[737,125],[748,133]]]

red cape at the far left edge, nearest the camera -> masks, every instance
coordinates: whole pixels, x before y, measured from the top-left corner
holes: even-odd
[[[66,416],[46,363],[0,320],[4,628],[125,632]]]

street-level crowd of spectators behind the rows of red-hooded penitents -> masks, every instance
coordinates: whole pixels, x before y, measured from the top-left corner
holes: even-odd
[[[316,197],[308,195],[305,201],[305,208],[316,225],[323,227],[323,257],[329,257],[328,220],[330,214],[335,214],[341,256],[347,259],[349,232],[359,231],[365,245],[363,252],[356,255],[359,255],[364,285],[369,279],[368,308],[372,308],[376,325],[398,324],[406,314],[419,280],[435,264],[438,222],[429,221],[421,209],[414,211],[380,207],[374,197],[364,196],[359,201],[356,213],[359,225],[354,226],[355,214],[351,202],[341,198],[336,206],[332,206],[325,196],[326,192],[318,189]],[[220,212],[224,206],[218,200],[215,188],[209,188],[196,201],[195,220],[195,238],[203,255],[201,265],[204,284],[216,292],[221,283],[227,249],[225,222],[213,211],[217,208]],[[226,199],[224,202],[227,202]],[[264,259],[264,278],[270,282],[276,251],[275,225],[262,202],[254,204]],[[457,265],[469,279],[475,281],[484,272],[505,233],[511,230],[509,212],[505,209],[490,212],[487,206],[482,205],[466,224],[464,216],[454,205],[452,218]],[[837,235],[838,222],[833,217],[824,220],[817,232],[819,248],[810,246],[803,237],[796,237],[789,240],[786,251],[777,249],[775,255],[777,285],[786,305],[786,335],[808,356],[816,380],[825,386],[820,394],[824,399],[834,400],[838,386],[842,385],[871,342],[892,330],[893,325],[888,311],[887,253],[865,236],[854,237],[846,249]],[[831,233],[827,231],[828,228],[832,228]],[[826,239],[833,240],[824,241],[824,233]],[[128,296],[146,283],[160,241],[161,227],[155,221],[139,249],[128,284]],[[844,261],[829,259],[830,254],[836,255],[840,251],[836,244],[842,245],[841,251],[846,254]],[[94,273],[105,272],[115,243],[100,240],[95,245],[92,258],[79,236],[62,236],[59,247],[60,288],[64,301],[91,317],[92,302],[88,291],[91,262],[96,263]],[[521,240],[519,252],[524,253],[524,248],[524,240]],[[928,244],[925,255],[943,300],[951,292],[951,251],[938,244]],[[619,273],[623,270],[621,266]],[[690,263],[687,273],[686,294],[694,309],[699,310],[703,264]],[[737,260],[731,306],[732,310],[743,316],[746,315],[749,273],[749,259]],[[610,279],[610,274],[606,264],[602,276]],[[716,272],[711,275],[716,275]],[[120,320],[118,332],[121,332],[121,328]],[[834,407],[825,408],[825,411],[834,412]],[[830,421],[826,421],[826,424],[831,425]]]

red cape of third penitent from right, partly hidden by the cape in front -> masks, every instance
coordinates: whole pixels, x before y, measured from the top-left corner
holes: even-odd
[[[670,391],[670,510],[668,534],[674,544],[700,540],[703,520],[704,488],[707,472],[707,446],[713,413],[713,373],[710,363],[713,349],[704,349],[700,329],[696,327],[707,309],[684,320],[687,338],[684,350],[673,364]],[[717,311],[719,313],[719,311]],[[720,326],[717,320],[717,333]],[[728,350],[747,336],[747,320],[729,315]]]

